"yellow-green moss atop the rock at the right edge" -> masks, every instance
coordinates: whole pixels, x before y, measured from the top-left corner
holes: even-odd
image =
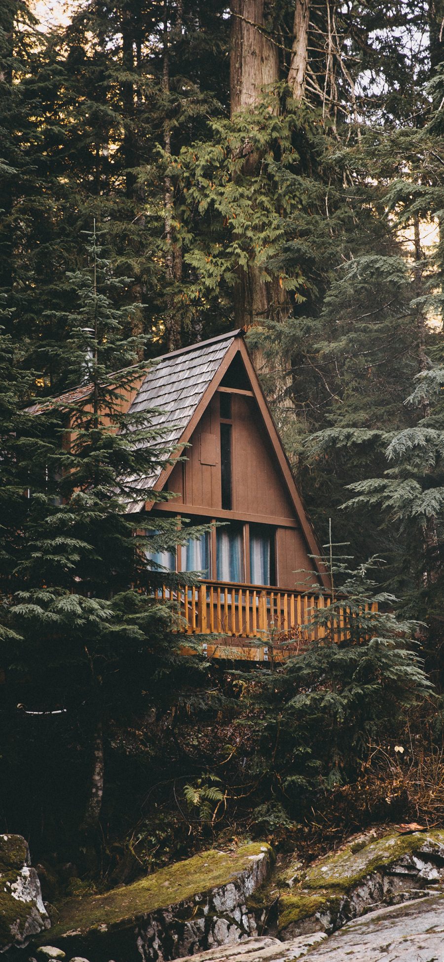
[[[414,854],[426,843],[430,851],[434,848],[436,852],[442,852],[444,831],[385,835],[358,851],[356,845],[347,846],[312,865],[308,869],[304,885],[310,889],[335,888],[348,891],[358,885],[365,875],[398,861],[403,855]]]

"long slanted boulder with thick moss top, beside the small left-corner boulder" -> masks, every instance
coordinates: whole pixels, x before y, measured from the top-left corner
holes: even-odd
[[[174,957],[168,952],[181,942],[186,925],[204,932],[210,919],[235,924],[237,902],[245,902],[273,860],[272,848],[260,842],[234,851],[210,849],[103,895],[63,899],[56,905],[51,943],[86,957],[89,951],[95,960],[112,956],[129,962],[138,957],[140,932],[149,939],[156,929],[169,938],[169,929],[176,943],[164,957]]]

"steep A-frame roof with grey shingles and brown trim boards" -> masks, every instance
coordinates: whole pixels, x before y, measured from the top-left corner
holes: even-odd
[[[160,409],[158,414],[150,414],[150,424],[167,429],[162,441],[171,448],[175,448],[179,455],[183,445],[189,442],[194,428],[202,418],[213,393],[219,387],[237,352],[240,353],[244,363],[251,390],[258,402],[265,430],[281,468],[284,485],[306,537],[309,552],[319,556],[320,546],[308,521],[278,429],[260,387],[250,352],[244,342],[242,330],[230,331],[228,334],[211,338],[210,341],[193,344],[158,358],[156,365],[150,368],[136,393],[130,412],[143,413],[143,411],[152,412],[153,408]],[[161,491],[173,468],[174,464],[161,470],[156,477],[142,478],[139,481],[134,479],[133,487],[145,488],[148,480],[149,486]],[[147,505],[147,507],[151,506]],[[137,512],[143,507],[144,502],[140,501],[132,503],[127,510]],[[325,587],[329,588],[329,575],[322,562],[315,560],[315,564]]]

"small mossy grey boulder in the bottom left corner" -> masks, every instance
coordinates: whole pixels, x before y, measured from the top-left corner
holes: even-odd
[[[0,952],[26,946],[51,925],[21,835],[0,835]]]

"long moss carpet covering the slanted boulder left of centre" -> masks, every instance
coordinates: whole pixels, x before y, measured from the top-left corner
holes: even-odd
[[[272,849],[260,842],[240,846],[233,852],[210,849],[132,885],[120,885],[105,895],[66,899],[57,904],[59,922],[51,929],[51,938],[54,940],[73,930],[85,933],[98,925],[108,927],[130,922],[138,915],[207,893],[250,868],[249,856],[264,851],[271,859]]]

